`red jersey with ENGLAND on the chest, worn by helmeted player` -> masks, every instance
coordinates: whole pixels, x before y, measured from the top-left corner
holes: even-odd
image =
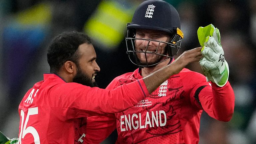
[[[140,78],[137,69],[116,77],[107,89]],[[184,68],[134,107],[108,116],[88,117],[85,141],[99,143],[117,128],[117,144],[198,144],[202,111],[229,121],[234,100],[229,82],[218,87],[206,82],[202,74]]]

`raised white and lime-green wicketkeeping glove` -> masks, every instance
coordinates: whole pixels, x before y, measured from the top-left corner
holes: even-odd
[[[220,31],[210,24],[199,27],[197,36],[200,45],[203,46],[201,53],[204,57],[199,64],[206,75],[206,80],[223,87],[228,81],[229,68],[220,44]]]

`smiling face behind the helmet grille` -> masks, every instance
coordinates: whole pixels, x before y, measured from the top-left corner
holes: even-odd
[[[135,49],[136,51],[141,51],[141,53],[136,53],[140,63],[143,65],[152,65],[160,62],[166,57],[157,54],[148,54],[143,52],[152,52],[163,55],[168,55],[167,49],[165,48],[167,44],[160,43],[157,41],[169,42],[170,37],[168,33],[159,31],[159,30],[149,30],[149,29],[137,29],[135,38],[141,39],[151,39],[156,41],[148,41],[148,40],[135,40]],[[147,47],[148,45],[148,47]],[[158,48],[157,48],[158,47]]]

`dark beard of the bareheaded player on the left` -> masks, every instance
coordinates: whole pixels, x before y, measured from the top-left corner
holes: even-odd
[[[80,67],[77,68],[77,74],[73,78],[73,82],[79,83],[85,86],[89,86],[89,87],[98,86],[96,82],[92,82],[92,79],[88,75],[83,73]]]

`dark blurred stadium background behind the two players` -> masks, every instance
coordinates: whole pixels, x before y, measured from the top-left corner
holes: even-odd
[[[143,0],[0,0],[0,131],[18,137],[18,105],[26,91],[49,72],[50,40],[63,31],[86,32],[93,39],[101,71],[96,81],[105,88],[118,75],[133,71],[126,55],[126,23]],[[183,51],[199,46],[197,28],[210,23],[221,32],[235,92],[230,122],[203,113],[200,144],[256,143],[255,0],[166,0],[181,19]],[[189,69],[202,72],[198,64]],[[103,143],[114,143],[116,133]]]

